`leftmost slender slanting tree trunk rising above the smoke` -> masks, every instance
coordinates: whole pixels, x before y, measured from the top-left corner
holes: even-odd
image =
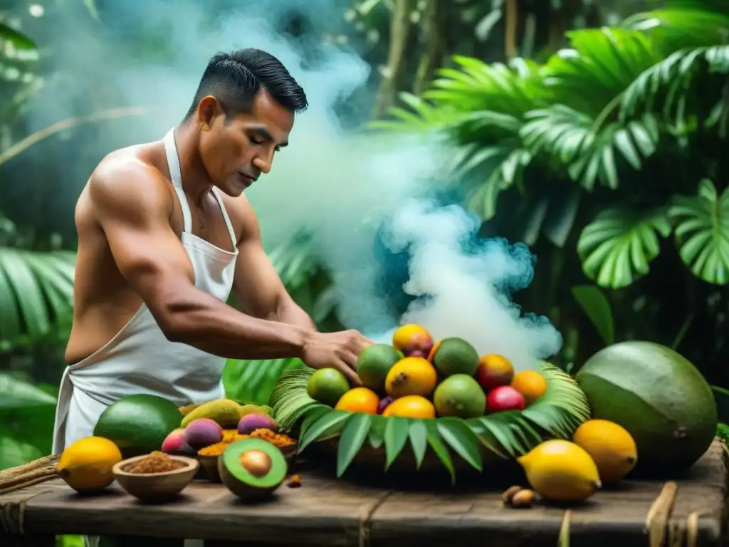
[[[382,117],[390,106],[395,104],[402,71],[405,66],[405,50],[408,46],[410,33],[413,29],[410,24],[410,13],[415,8],[415,0],[395,0],[395,8],[390,24],[390,51],[387,59],[386,74],[383,74],[380,88],[377,92],[373,118]]]

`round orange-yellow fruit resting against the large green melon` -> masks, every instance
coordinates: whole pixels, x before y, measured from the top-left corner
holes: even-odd
[[[638,462],[631,434],[615,422],[588,420],[577,427],[572,441],[595,460],[603,483],[620,481]]]

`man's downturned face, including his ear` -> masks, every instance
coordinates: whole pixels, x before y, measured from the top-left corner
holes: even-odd
[[[209,125],[200,135],[203,165],[213,185],[237,197],[261,173],[270,171],[273,155],[289,144],[294,115],[264,89],[256,96],[250,114],[238,114],[230,120],[222,112],[206,117],[204,101],[201,117],[209,120]]]

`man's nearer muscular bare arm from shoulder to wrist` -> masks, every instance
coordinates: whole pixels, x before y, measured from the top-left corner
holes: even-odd
[[[90,198],[121,274],[165,336],[234,359],[297,357],[306,328],[250,317],[195,287],[192,265],[169,224],[168,183],[141,162],[104,166]]]

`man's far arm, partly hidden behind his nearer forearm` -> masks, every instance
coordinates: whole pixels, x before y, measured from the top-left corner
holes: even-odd
[[[286,291],[276,268],[273,268],[266,255],[253,207],[241,196],[236,200],[235,208],[235,216],[243,220],[233,282],[233,294],[241,308],[253,317],[316,330],[311,317]]]

